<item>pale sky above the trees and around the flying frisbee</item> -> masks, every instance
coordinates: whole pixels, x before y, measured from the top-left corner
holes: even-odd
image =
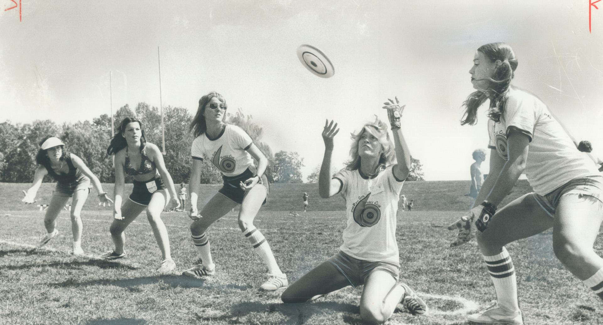
[[[603,8],[579,1],[22,1],[0,0],[0,121],[92,120],[138,102],[188,108],[218,91],[229,110],[264,125],[274,152],[296,151],[305,176],[320,164],[325,119],[349,134],[398,96],[403,133],[428,180],[469,179],[488,143],[485,115],[460,126],[469,69],[484,43],[507,42],[514,84],[537,94],[578,140],[603,149]],[[301,66],[321,49],[335,75]],[[169,146],[169,143],[167,144]],[[603,150],[601,150],[603,152]],[[487,173],[488,161],[483,165]]]

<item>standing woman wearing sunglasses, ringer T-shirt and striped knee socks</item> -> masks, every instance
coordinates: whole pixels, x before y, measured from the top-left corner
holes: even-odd
[[[227,107],[223,96],[212,91],[199,100],[197,115],[191,123],[195,140],[191,149],[193,163],[189,182],[189,217],[193,220],[191,237],[197,248],[199,263],[182,274],[192,277],[215,274],[206,230],[213,222],[240,204],[239,228],[257,255],[268,266],[268,280],[261,288],[274,291],[288,285],[287,277],[280,271],[264,235],[253,225],[257,212],[268,199],[268,180],[264,176],[268,159],[253,144],[245,131],[224,122]],[[257,168],[252,157],[258,162]],[[222,173],[224,186],[207,202],[201,213],[198,213],[197,197],[203,159],[210,159],[213,166]]]

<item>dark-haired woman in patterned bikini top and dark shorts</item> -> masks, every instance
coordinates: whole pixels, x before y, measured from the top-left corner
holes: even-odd
[[[125,256],[124,230],[146,209],[147,218],[162,253],[162,263],[158,271],[172,271],[176,265],[169,251],[168,231],[160,217],[170,197],[176,207],[180,206],[172,176],[165,169],[159,148],[145,139],[145,132],[139,120],[126,117],[119,125],[118,131],[107,149],[107,154],[115,155],[115,210],[110,228],[115,250],[107,252],[101,258],[118,259]],[[134,190],[130,199],[122,205],[124,174],[133,176]],[[164,181],[167,184],[164,184]]]

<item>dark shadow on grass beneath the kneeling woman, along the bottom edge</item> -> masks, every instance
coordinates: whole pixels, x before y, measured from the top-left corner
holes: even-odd
[[[241,302],[231,305],[229,314],[225,315],[204,315],[203,309],[192,311],[192,318],[195,321],[224,321],[229,324],[247,324],[245,319],[248,314],[264,312],[272,314],[279,313],[287,317],[287,320],[279,320],[282,324],[303,324],[313,315],[325,315],[335,312],[347,312],[352,315],[344,315],[344,323],[363,324],[360,318],[360,309],[351,303],[339,302],[311,302],[311,303],[260,303],[260,302]]]

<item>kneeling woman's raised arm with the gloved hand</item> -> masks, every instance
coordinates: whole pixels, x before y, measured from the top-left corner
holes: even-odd
[[[397,179],[403,180],[408,177],[408,173],[411,171],[411,153],[406,144],[406,140],[402,135],[402,128],[400,127],[400,119],[402,119],[402,113],[406,105],[400,107],[400,101],[396,97],[396,102],[391,99],[389,102],[384,103],[383,108],[387,109],[387,116],[390,119],[391,132],[394,135],[394,146],[396,147],[396,160],[397,164],[393,168],[394,176]]]

